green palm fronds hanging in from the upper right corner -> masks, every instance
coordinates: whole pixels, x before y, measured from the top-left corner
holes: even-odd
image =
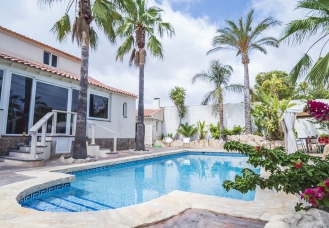
[[[306,81],[313,86],[325,85],[329,87],[329,52],[322,51],[329,43],[329,2],[325,0],[302,0],[298,2],[296,9],[303,9],[307,12],[307,18],[295,20],[288,23],[282,31],[280,41],[286,41],[292,45],[300,45],[313,35],[320,38],[314,42],[307,52],[290,72],[291,80],[296,83],[297,79],[306,75]],[[308,52],[318,42],[322,42],[322,48],[318,60],[313,64]]]

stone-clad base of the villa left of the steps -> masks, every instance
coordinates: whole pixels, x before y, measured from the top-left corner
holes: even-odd
[[[0,154],[9,154],[9,150],[19,149],[21,145],[28,145],[30,136],[2,136],[0,138]]]

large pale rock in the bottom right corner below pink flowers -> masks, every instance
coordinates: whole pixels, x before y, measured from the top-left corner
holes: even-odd
[[[284,216],[273,216],[265,225],[265,228],[272,227],[329,227],[329,213],[312,208],[308,211],[302,210],[294,214]]]

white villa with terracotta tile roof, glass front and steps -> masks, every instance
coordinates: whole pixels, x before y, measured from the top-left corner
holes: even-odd
[[[0,153],[7,155],[0,159],[43,160],[69,153],[80,61],[0,26]],[[87,137],[96,150],[134,147],[136,98],[89,77]]]

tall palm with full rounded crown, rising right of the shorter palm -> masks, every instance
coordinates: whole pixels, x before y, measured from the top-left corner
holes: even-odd
[[[253,50],[263,52],[265,55],[267,51],[265,46],[278,47],[275,37],[262,37],[260,34],[266,29],[279,25],[280,22],[271,17],[265,18],[254,28],[252,27],[254,19],[254,9],[252,9],[245,18],[245,23],[242,17],[238,20],[236,25],[233,21],[227,20],[227,27],[217,29],[219,35],[215,36],[212,41],[213,49],[207,54],[221,51],[233,50],[236,55],[241,56],[241,62],[244,67],[244,118],[245,118],[245,133],[252,133],[251,121],[251,107],[250,107],[250,86],[249,86],[249,55]]]

